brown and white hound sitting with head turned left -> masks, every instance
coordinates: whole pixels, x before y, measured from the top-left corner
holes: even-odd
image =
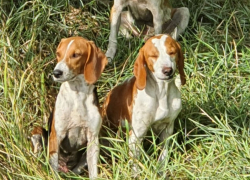
[[[49,162],[55,171],[62,149],[65,153],[87,147],[90,179],[98,175],[99,131],[102,119],[96,88],[106,64],[105,54],[96,45],[81,37],[62,39],[56,51],[57,65],[53,78],[61,82],[51,133],[49,136]],[[67,167],[64,167],[67,171]]]

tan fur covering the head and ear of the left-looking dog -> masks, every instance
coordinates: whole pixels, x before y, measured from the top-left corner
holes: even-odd
[[[72,40],[74,42],[68,47]],[[56,54],[58,62],[65,60],[67,66],[73,70],[74,74],[84,74],[85,80],[89,84],[97,81],[108,63],[105,54],[96,47],[94,42],[82,37],[62,39]]]

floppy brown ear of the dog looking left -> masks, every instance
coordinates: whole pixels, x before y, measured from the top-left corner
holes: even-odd
[[[84,78],[87,83],[95,83],[101,76],[108,59],[105,54],[94,44],[88,42],[88,57],[84,66]]]

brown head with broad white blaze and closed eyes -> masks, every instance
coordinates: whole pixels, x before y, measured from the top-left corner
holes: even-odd
[[[148,39],[140,49],[134,65],[136,86],[140,90],[146,86],[146,68],[160,81],[171,80],[178,69],[181,84],[186,83],[181,47],[169,35],[156,35]]]

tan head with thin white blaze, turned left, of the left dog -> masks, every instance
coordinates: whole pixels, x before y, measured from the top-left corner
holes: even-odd
[[[71,81],[83,74],[86,82],[93,84],[108,63],[105,54],[94,42],[82,37],[62,39],[56,50],[56,58],[53,78],[57,82]]]

